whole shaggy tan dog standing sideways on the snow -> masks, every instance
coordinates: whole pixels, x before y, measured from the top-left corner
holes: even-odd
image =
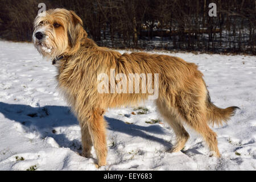
[[[179,57],[144,52],[121,54],[98,47],[88,38],[81,18],[74,11],[65,9],[51,9],[46,11],[45,16],[36,16],[33,42],[44,57],[52,59],[52,63],[58,65],[58,87],[81,126],[82,156],[89,157],[94,146],[98,166],[106,164],[108,152],[105,109],[135,105],[151,96],[150,93],[143,92],[142,83],[139,83],[139,93],[109,93],[109,89],[113,91],[113,85],[104,88],[105,84],[101,84],[102,79],[98,75],[104,73],[110,76],[111,69],[114,69],[115,75],[122,73],[127,77],[130,73],[158,73],[159,80],[154,77],[149,85],[156,81],[159,85],[159,96],[155,99],[155,104],[175,132],[176,144],[172,152],[180,151],[187,142],[189,134],[183,127],[183,123],[187,123],[203,136],[214,155],[220,156],[217,135],[208,124],[218,125],[222,121],[228,121],[238,107],[221,109],[212,104],[203,74],[197,69],[197,65],[187,63]],[[132,86],[143,80],[140,76]],[[118,85],[118,80],[114,83]],[[99,92],[101,86],[107,92]],[[119,87],[121,91],[125,86],[129,85],[122,84]]]

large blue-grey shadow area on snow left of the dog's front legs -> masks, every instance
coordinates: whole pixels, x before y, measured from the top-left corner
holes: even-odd
[[[69,147],[77,152],[81,150],[80,135],[70,140],[67,137],[68,133],[65,132],[66,127],[73,126],[79,129],[79,122],[66,106],[31,107],[0,102],[0,113],[10,120],[21,123],[24,134],[35,133],[42,139],[52,137],[60,147]]]

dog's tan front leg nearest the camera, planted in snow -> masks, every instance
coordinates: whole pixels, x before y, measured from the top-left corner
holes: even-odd
[[[95,109],[88,117],[88,130],[96,151],[98,166],[106,165],[108,148],[106,144],[106,122],[103,117],[104,110]]]

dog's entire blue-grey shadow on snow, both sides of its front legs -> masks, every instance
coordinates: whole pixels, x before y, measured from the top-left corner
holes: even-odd
[[[67,106],[31,107],[29,105],[0,102],[0,113],[10,120],[21,123],[25,133],[35,132],[42,139],[52,137],[60,147],[69,147],[73,151],[81,152],[81,135],[72,135],[72,139],[69,139],[67,137],[68,133],[65,133],[67,129],[65,127],[73,127],[73,129],[69,128],[69,131],[80,130],[79,122]],[[108,122],[109,130],[125,133],[133,137],[146,138],[159,142],[165,147],[171,147],[171,144],[166,140],[147,134],[163,134],[163,129],[160,126],[127,125],[118,119],[109,117],[105,117],[105,119]]]

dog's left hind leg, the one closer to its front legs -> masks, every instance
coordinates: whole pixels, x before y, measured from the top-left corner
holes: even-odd
[[[184,129],[181,118],[179,117],[179,114],[172,108],[167,109],[166,106],[163,104],[157,103],[159,113],[164,118],[164,121],[166,121],[174,130],[174,133],[176,135],[176,144],[174,148],[172,148],[171,152],[178,152],[182,150],[185,146],[185,143],[187,142],[189,138],[189,134]]]

